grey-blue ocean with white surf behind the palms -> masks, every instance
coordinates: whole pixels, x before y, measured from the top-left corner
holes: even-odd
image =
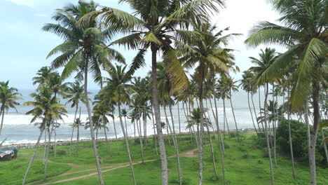
[[[33,93],[34,90],[19,90],[19,92],[22,94],[23,100],[20,100],[20,103],[31,101],[31,97],[29,97],[30,93]],[[96,90],[90,90],[90,97],[93,97],[97,91]],[[261,93],[261,101],[264,100],[264,93]],[[270,95],[269,95],[270,96]],[[271,97],[269,98],[269,100]],[[240,90],[239,92],[233,92],[232,95],[232,101],[233,101],[233,108],[235,111],[235,119],[238,125],[238,129],[246,129],[246,128],[253,128],[252,123],[252,117],[250,115],[250,109],[248,107],[247,102],[247,93],[243,90]],[[219,114],[219,126],[221,129],[224,128],[223,125],[223,101],[219,100],[218,102],[218,114]],[[281,100],[280,100],[281,102]],[[65,103],[65,100],[62,100],[61,103]],[[214,108],[214,102],[213,108]],[[251,106],[252,106],[252,102]],[[254,95],[254,104],[257,110],[257,113],[259,113],[259,100],[258,95]],[[210,120],[213,123],[214,130],[216,130],[214,117],[212,115],[212,110],[210,109],[210,102],[207,101],[207,116],[209,116]],[[197,104],[195,103],[194,107],[196,107]],[[204,102],[204,106],[206,107],[206,103]],[[88,112],[86,110],[86,107],[81,104],[81,120],[83,122],[87,121],[88,118]],[[124,107],[124,106],[123,106]],[[36,139],[39,135],[39,128],[34,126],[34,123],[30,123],[32,116],[26,115],[25,113],[32,109],[32,107],[27,107],[24,105],[20,105],[17,108],[17,112],[14,109],[10,109],[7,113],[5,113],[4,117],[4,126],[3,130],[0,135],[0,141],[6,139],[6,142],[4,142],[4,145],[9,144],[22,144],[22,143],[35,143]],[[184,111],[182,109],[182,103],[179,103],[179,115],[178,115],[178,109],[177,106],[172,107],[172,114],[173,119],[175,121],[175,132],[179,132],[179,118],[181,123],[181,132],[188,132],[189,130],[186,130],[186,117],[184,116]],[[127,108],[128,109],[128,108]],[[61,141],[67,141],[71,138],[71,123],[74,121],[74,108],[71,108],[69,104],[67,104],[67,116],[64,116],[64,121],[58,121],[60,123],[60,128],[57,128],[57,140]],[[167,110],[168,111],[168,110]],[[215,111],[215,110],[214,110]],[[253,111],[253,109],[252,109]],[[115,114],[115,125],[116,125],[116,132],[118,137],[123,137],[123,132],[121,130],[121,124],[119,123],[118,118],[118,112],[116,111]],[[163,112],[163,109],[161,108],[161,120],[165,122],[165,114]],[[168,111],[168,116],[170,116],[170,112]],[[229,100],[226,100],[226,116],[228,120],[228,127],[231,130],[235,130],[235,123],[233,121],[233,113],[231,111],[231,105]],[[107,132],[107,135],[109,138],[115,138],[114,134],[114,124],[112,121],[112,118],[109,118],[109,124],[107,125],[109,128],[109,131]],[[124,121],[124,119],[123,119]],[[131,123],[130,119],[127,119],[127,129],[128,129],[128,135],[133,136],[134,135],[134,126]],[[169,117],[169,121],[171,122],[171,118]],[[256,124],[256,120],[255,124]],[[146,133],[147,135],[153,135],[153,122],[152,120],[147,119],[146,121]],[[171,123],[170,123],[171,124]],[[142,134],[144,133],[144,130],[142,128]],[[166,128],[163,128],[163,133],[167,133]],[[99,138],[104,137],[104,130],[99,130],[98,133]],[[76,132],[74,132],[74,139],[76,138]],[[81,139],[90,139],[90,130],[86,130],[84,128],[80,129],[80,138]],[[42,139],[41,139],[42,141]]]

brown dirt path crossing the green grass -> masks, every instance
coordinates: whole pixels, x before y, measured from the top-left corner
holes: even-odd
[[[195,154],[195,151],[198,151],[198,149],[192,149],[192,150],[189,150],[189,151],[185,151],[185,152],[182,152],[180,153],[179,156],[182,156],[182,157],[186,157],[186,158],[193,158],[193,157],[197,157],[197,155]],[[175,158],[176,155],[174,156],[169,156],[168,158]],[[147,162],[151,162],[151,161],[155,161],[157,159],[151,159],[151,160],[144,160],[144,163],[147,163]],[[137,165],[139,163],[142,163],[142,161],[137,161],[135,163],[133,163],[133,165]],[[71,164],[71,163],[65,163],[67,165],[74,165],[74,164]],[[102,167],[102,172],[109,172],[111,170],[116,170],[116,169],[119,169],[119,168],[122,168],[122,167],[128,167],[130,166],[129,163],[121,163],[121,164],[114,164],[114,165],[118,165],[116,167]],[[78,165],[75,165],[75,166],[78,166]],[[104,168],[110,168],[108,170],[104,170]],[[97,170],[97,168],[94,168],[94,169],[89,169],[89,170],[81,170],[81,171],[77,171],[77,172],[67,172],[67,173],[64,173],[64,174],[59,174],[57,176],[54,176],[54,177],[60,177],[60,176],[63,176],[63,175],[67,175],[67,174],[74,174],[74,173],[78,173],[78,172],[88,172],[88,171],[91,171],[91,170]],[[93,172],[93,173],[90,173],[90,174],[85,174],[85,175],[82,175],[82,176],[79,176],[79,177],[72,177],[72,178],[69,178],[69,179],[62,179],[62,180],[59,180],[59,181],[53,181],[53,182],[47,182],[47,183],[43,183],[43,184],[39,184],[39,185],[48,185],[48,184],[57,184],[57,183],[61,183],[61,182],[65,182],[65,181],[73,181],[73,180],[76,180],[76,179],[83,179],[83,178],[86,178],[86,177],[92,177],[93,175],[97,175],[98,173],[97,172]],[[32,183],[35,183],[36,181],[32,182]]]

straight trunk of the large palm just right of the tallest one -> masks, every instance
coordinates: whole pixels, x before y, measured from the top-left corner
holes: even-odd
[[[200,106],[200,132],[199,132],[199,179],[198,184],[203,184],[203,132],[204,132],[204,106],[203,106],[203,78],[204,78],[204,64],[200,63],[200,77],[199,77],[199,106]]]

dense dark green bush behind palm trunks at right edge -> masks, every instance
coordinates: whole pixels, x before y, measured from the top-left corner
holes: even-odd
[[[305,123],[299,121],[291,120],[290,128],[292,132],[292,144],[293,144],[293,154],[295,158],[308,158],[308,137],[307,128]],[[310,125],[310,132],[313,132],[313,126]],[[280,150],[289,154],[289,134],[288,134],[288,121],[282,120],[278,125],[277,129],[277,144],[280,146]],[[328,135],[327,130],[324,131],[324,135]],[[316,160],[317,163],[324,163],[324,149],[320,148],[320,143],[322,142],[321,132],[317,135],[317,147],[316,147]]]

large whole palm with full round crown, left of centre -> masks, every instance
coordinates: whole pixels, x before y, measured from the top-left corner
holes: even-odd
[[[124,62],[123,56],[118,51],[107,47],[104,43],[111,39],[112,29],[101,29],[97,20],[89,20],[81,25],[78,20],[97,9],[94,1],[86,3],[78,1],[78,5],[69,4],[62,9],[57,9],[53,20],[58,24],[47,24],[43,27],[46,32],[53,32],[64,39],[64,43],[50,51],[48,57],[61,53],[52,62],[53,68],[64,67],[62,78],[67,78],[74,71],[78,71],[77,77],[84,78],[84,96],[88,117],[90,118],[90,135],[93,142],[95,161],[100,184],[104,184],[100,169],[100,160],[95,143],[93,120],[91,119],[90,102],[88,100],[88,71],[93,72],[95,81],[100,81],[101,69],[111,65],[111,60]],[[84,73],[84,76],[83,76]],[[101,82],[101,81],[100,81]]]

